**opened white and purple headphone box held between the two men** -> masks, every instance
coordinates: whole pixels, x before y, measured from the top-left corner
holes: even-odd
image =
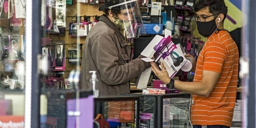
[[[166,30],[165,33],[168,34],[171,32]],[[163,62],[169,77],[172,78],[188,61],[184,57],[184,54],[185,52],[181,44],[175,45],[170,35],[166,35],[166,37],[156,35],[141,53],[141,55],[147,58],[141,59],[146,62],[155,61],[160,69],[160,62]],[[153,57],[155,60],[151,59]],[[137,77],[136,86],[138,89],[146,88],[150,73],[151,69],[148,68]]]

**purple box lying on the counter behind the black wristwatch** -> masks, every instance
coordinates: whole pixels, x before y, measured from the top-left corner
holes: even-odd
[[[165,89],[166,93],[180,93],[178,89],[169,89],[166,87],[166,84],[163,83],[161,80],[152,80],[151,82],[153,88]]]

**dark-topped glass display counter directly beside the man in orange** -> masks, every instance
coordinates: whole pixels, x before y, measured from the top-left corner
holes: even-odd
[[[147,126],[154,128],[184,128],[190,127],[188,109],[190,94],[125,94],[128,96],[139,96],[140,116],[139,127]]]

